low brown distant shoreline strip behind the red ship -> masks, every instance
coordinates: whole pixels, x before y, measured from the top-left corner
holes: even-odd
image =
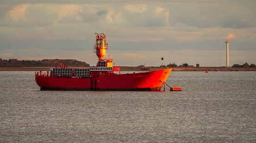
[[[21,68],[14,68],[14,67],[5,67],[0,68],[0,71],[50,71],[51,68],[54,67],[21,67]],[[73,67],[74,69],[88,69],[89,67]],[[120,71],[154,71],[160,70],[162,68],[159,67],[150,67],[150,70],[141,70],[139,67],[120,67]],[[167,68],[163,68],[167,69]],[[239,67],[239,68],[226,68],[226,67],[175,67],[172,68],[172,72],[175,71],[206,71],[208,69],[209,72],[211,71],[256,71],[256,67]]]

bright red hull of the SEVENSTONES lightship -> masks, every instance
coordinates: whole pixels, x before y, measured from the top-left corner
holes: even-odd
[[[160,91],[172,69],[134,74],[105,74],[93,77],[52,77],[36,73],[41,90]]]

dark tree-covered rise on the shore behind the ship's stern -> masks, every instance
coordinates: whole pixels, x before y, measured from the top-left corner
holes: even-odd
[[[21,60],[18,61],[17,59],[9,59],[4,60],[0,58],[0,67],[54,67],[55,62],[57,62],[58,65],[61,65],[62,61],[65,61],[65,63],[68,66],[72,67],[89,67],[90,64],[86,62],[81,62],[77,60],[61,60],[61,59],[52,59],[52,60]]]

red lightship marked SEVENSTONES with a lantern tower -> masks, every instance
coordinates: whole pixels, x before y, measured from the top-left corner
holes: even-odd
[[[120,67],[113,66],[113,59],[104,59],[108,44],[105,33],[96,34],[94,53],[99,57],[95,67],[71,69],[62,61],[50,72],[36,72],[40,90],[79,91],[160,91],[172,69],[120,74]],[[115,71],[119,71],[116,74]],[[117,72],[118,73],[118,72]]]

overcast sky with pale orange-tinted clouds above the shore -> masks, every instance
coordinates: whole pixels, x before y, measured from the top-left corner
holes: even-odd
[[[256,64],[256,0],[0,0],[2,59],[94,66],[104,31],[115,66],[225,66],[225,40],[230,66]]]

